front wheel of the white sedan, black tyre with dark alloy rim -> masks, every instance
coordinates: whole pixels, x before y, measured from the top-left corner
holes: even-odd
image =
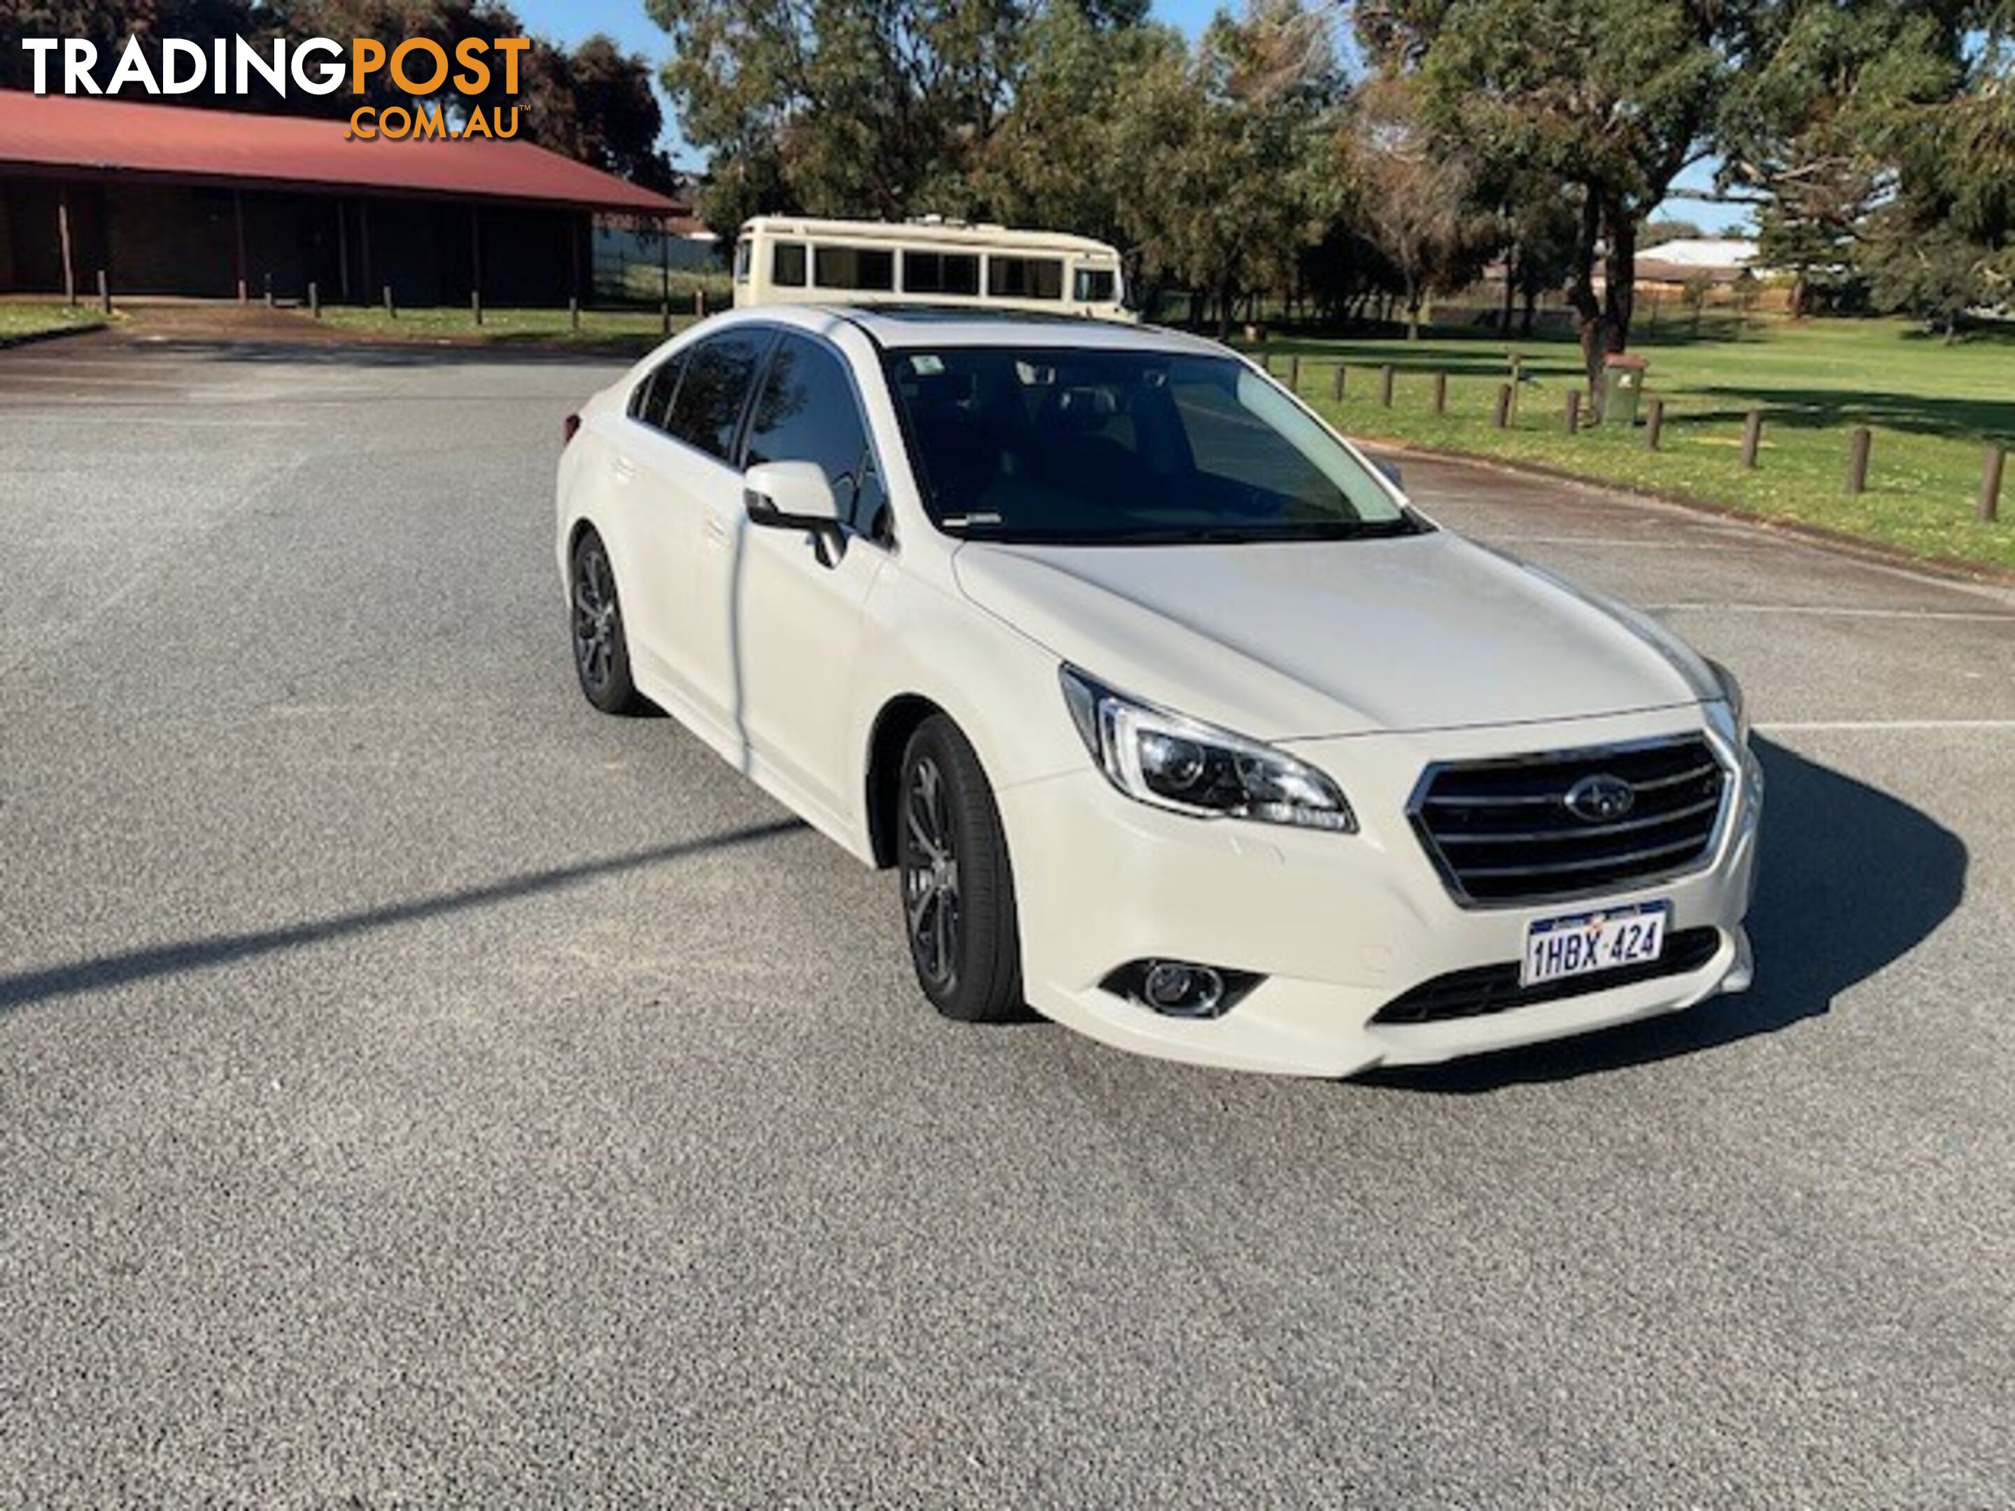
[[[903,747],[897,804],[903,933],[923,995],[961,1023],[1026,1017],[1008,840],[979,758],[945,715]]]

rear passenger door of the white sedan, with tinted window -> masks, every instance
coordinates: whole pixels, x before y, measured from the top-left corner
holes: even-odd
[[[740,324],[679,353],[677,387],[637,447],[639,490],[633,518],[641,522],[651,590],[639,604],[639,639],[671,691],[713,725],[721,741],[737,739],[733,667],[721,619],[721,558],[742,512],[742,471],[733,465],[762,359],[776,338],[768,326]]]

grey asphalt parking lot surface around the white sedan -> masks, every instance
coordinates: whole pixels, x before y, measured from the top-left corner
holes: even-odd
[[[0,1503],[2009,1503],[2015,592],[1408,459],[1741,673],[1757,987],[1191,1070],[582,703],[613,371],[0,353]]]

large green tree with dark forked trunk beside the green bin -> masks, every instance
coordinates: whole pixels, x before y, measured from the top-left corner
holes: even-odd
[[[1570,298],[1594,387],[1630,338],[1638,228],[1711,141],[1765,0],[1384,0],[1356,8],[1441,137],[1578,191]],[[1598,290],[1600,262],[1600,290]]]

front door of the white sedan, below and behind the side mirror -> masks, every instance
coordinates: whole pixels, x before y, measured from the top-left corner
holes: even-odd
[[[752,753],[812,802],[844,814],[862,604],[889,562],[889,512],[852,373],[834,347],[794,330],[778,338],[742,461],[814,461],[840,504],[836,542],[740,516],[727,619]]]

